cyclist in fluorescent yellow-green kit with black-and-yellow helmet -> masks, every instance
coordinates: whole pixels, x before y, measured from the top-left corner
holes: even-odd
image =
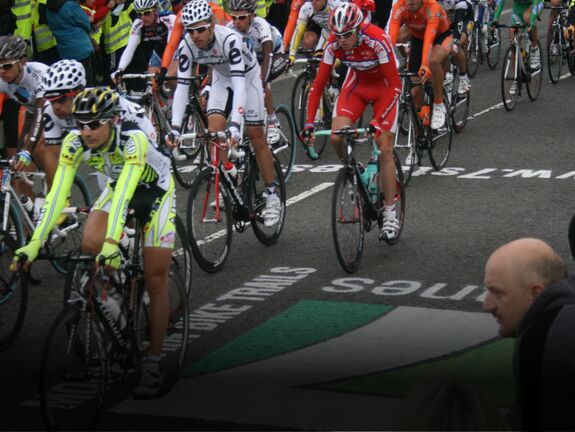
[[[144,226],[144,279],[150,295],[150,348],[135,394],[154,397],[161,384],[160,355],[169,319],[168,274],[175,242],[175,188],[170,160],[134,122],[118,123],[119,96],[107,88],[80,92],[72,106],[79,130],[64,138],[58,168],[30,242],[18,249],[34,261],[58,216],[82,161],[109,177],[84,227],[82,250],[118,268],[118,242],[128,208]],[[14,267],[18,267],[14,263]]]

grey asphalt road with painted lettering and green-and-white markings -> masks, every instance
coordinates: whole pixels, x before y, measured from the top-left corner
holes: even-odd
[[[532,236],[574,268],[567,227],[575,80],[552,85],[544,72],[539,99],[524,93],[506,112],[501,64],[480,66],[472,119],[455,136],[447,168],[434,172],[424,161],[407,190],[401,240],[388,246],[369,233],[351,276],[331,238],[338,161],[328,149],[312,162],[298,147],[279,242],[265,247],[246,230],[234,233],[220,273],[194,263],[182,379],[162,399],[119,400],[102,428],[385,429],[396,424],[413,384],[452,373],[509,408],[512,341],[498,339],[494,319],[482,312],[486,259],[501,244]],[[274,85],[276,103],[288,102],[292,85]],[[179,189],[182,212],[186,199]],[[41,428],[37,369],[63,279],[44,264],[36,272],[43,283],[30,289],[24,329],[0,353],[0,429]]]

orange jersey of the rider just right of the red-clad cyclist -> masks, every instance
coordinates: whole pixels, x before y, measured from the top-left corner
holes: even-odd
[[[423,40],[421,65],[429,67],[435,38],[451,29],[447,14],[435,0],[423,0],[421,7],[414,13],[407,10],[406,0],[398,0],[393,6],[389,20],[389,37],[394,45],[399,37],[399,28],[403,24],[408,27],[413,37]]]

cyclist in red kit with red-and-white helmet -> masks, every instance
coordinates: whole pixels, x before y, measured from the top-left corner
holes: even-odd
[[[383,175],[385,195],[384,222],[380,239],[393,239],[399,232],[394,197],[395,164],[393,141],[397,128],[397,105],[401,94],[401,80],[397,72],[393,45],[385,31],[373,24],[365,24],[359,7],[353,3],[339,5],[329,18],[332,34],[322,62],[311,86],[307,121],[302,138],[313,145],[314,117],[321,95],[329,79],[335,60],[348,67],[348,74],[337,99],[332,128],[353,125],[367,104],[373,105],[370,132],[375,135],[380,150],[379,166]],[[342,137],[332,136],[337,155],[345,155]]]

